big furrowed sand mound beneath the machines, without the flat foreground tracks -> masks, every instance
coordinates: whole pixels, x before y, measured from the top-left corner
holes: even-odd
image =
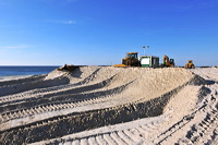
[[[175,108],[173,98],[185,89],[183,94],[194,96],[192,104],[204,100],[210,92],[201,85],[213,82],[179,68],[112,67],[55,70],[44,76],[2,82],[1,143],[35,143],[164,116]],[[194,90],[192,95],[190,89]]]

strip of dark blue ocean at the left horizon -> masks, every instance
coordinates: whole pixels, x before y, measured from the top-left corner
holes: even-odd
[[[0,67],[0,76],[47,74],[59,67]]]

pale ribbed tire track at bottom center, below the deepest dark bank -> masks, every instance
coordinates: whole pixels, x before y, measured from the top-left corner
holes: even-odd
[[[132,123],[137,124],[132,126]],[[147,137],[147,134],[161,125],[161,121],[154,119],[153,121],[141,121],[126,122],[117,125],[124,125],[126,129],[118,130],[117,128],[107,131],[108,129],[101,128],[96,129],[99,131],[90,130],[88,132],[82,132],[77,134],[66,135],[59,140],[50,140],[45,142],[34,143],[33,145],[39,144],[108,144],[108,145],[125,145],[125,144],[143,144]],[[149,128],[148,128],[149,126]],[[106,126],[107,128],[107,126]],[[105,131],[105,132],[104,132]],[[94,132],[94,133],[93,133]],[[95,133],[96,132],[96,133]],[[92,135],[87,135],[92,134]]]

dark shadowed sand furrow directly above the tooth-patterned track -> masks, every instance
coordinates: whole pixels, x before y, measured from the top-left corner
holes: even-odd
[[[0,111],[1,112],[12,111],[20,108],[33,107],[33,106],[43,105],[43,104],[52,104],[52,102],[56,104],[57,101],[58,102],[75,101],[76,98],[78,98],[80,96],[82,98],[85,98],[85,96],[83,95],[90,94],[90,92],[96,92],[97,89],[104,88],[105,86],[109,85],[113,78],[114,76],[97,84],[77,86],[68,90],[57,92],[53,94],[45,94],[41,97],[32,97],[32,98],[22,100],[21,102],[19,101],[14,104],[5,104],[3,106],[0,106]],[[38,94],[36,94],[36,96]]]

